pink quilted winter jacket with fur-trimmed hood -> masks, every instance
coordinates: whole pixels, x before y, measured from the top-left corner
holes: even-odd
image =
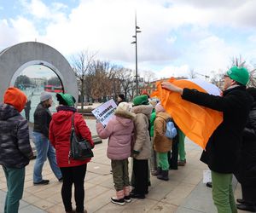
[[[101,123],[96,124],[97,134],[108,138],[108,158],[121,160],[131,156],[131,133],[134,128],[135,114],[123,110],[116,110],[104,128]]]

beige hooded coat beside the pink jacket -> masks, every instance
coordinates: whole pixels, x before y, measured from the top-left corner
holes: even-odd
[[[153,107],[151,105],[134,106],[131,112],[136,113],[135,124],[135,143],[133,150],[138,154],[134,156],[137,159],[150,158],[150,135],[148,131],[149,120]]]

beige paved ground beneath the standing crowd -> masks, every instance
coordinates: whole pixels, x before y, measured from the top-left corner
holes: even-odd
[[[92,134],[96,134],[95,120],[87,120]],[[169,181],[160,181],[151,176],[152,186],[146,199],[133,199],[130,204],[119,206],[110,202],[113,196],[113,179],[109,173],[110,160],[106,156],[107,141],[97,144],[95,158],[88,164],[85,178],[85,208],[91,212],[177,212],[177,213],[213,213],[217,212],[212,204],[211,189],[202,183],[205,164],[199,161],[201,148],[187,140],[185,143],[187,164],[178,170],[171,170]],[[33,186],[32,169],[35,160],[26,167],[26,182],[23,199],[20,202],[20,213],[65,212],[61,201],[61,183],[58,182],[49,168],[44,165],[44,178],[49,185]],[[130,168],[131,169],[131,168]],[[234,181],[236,198],[241,198],[241,187]],[[3,213],[6,182],[3,170],[0,169],[0,213]],[[74,202],[73,202],[74,203]],[[245,211],[239,211],[245,212]]]

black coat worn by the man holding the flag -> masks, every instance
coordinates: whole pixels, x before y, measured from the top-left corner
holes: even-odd
[[[224,120],[207,142],[201,161],[218,173],[234,173],[238,169],[242,130],[253,103],[245,86],[226,89],[223,96],[209,95],[195,89],[183,89],[183,99],[223,112]]]

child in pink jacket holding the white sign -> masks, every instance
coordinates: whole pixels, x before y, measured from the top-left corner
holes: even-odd
[[[135,116],[131,113],[130,104],[122,102],[105,128],[101,123],[96,124],[97,134],[102,139],[108,138],[108,158],[111,159],[116,190],[116,196],[111,198],[113,204],[131,202],[128,158],[131,156],[131,133]]]

